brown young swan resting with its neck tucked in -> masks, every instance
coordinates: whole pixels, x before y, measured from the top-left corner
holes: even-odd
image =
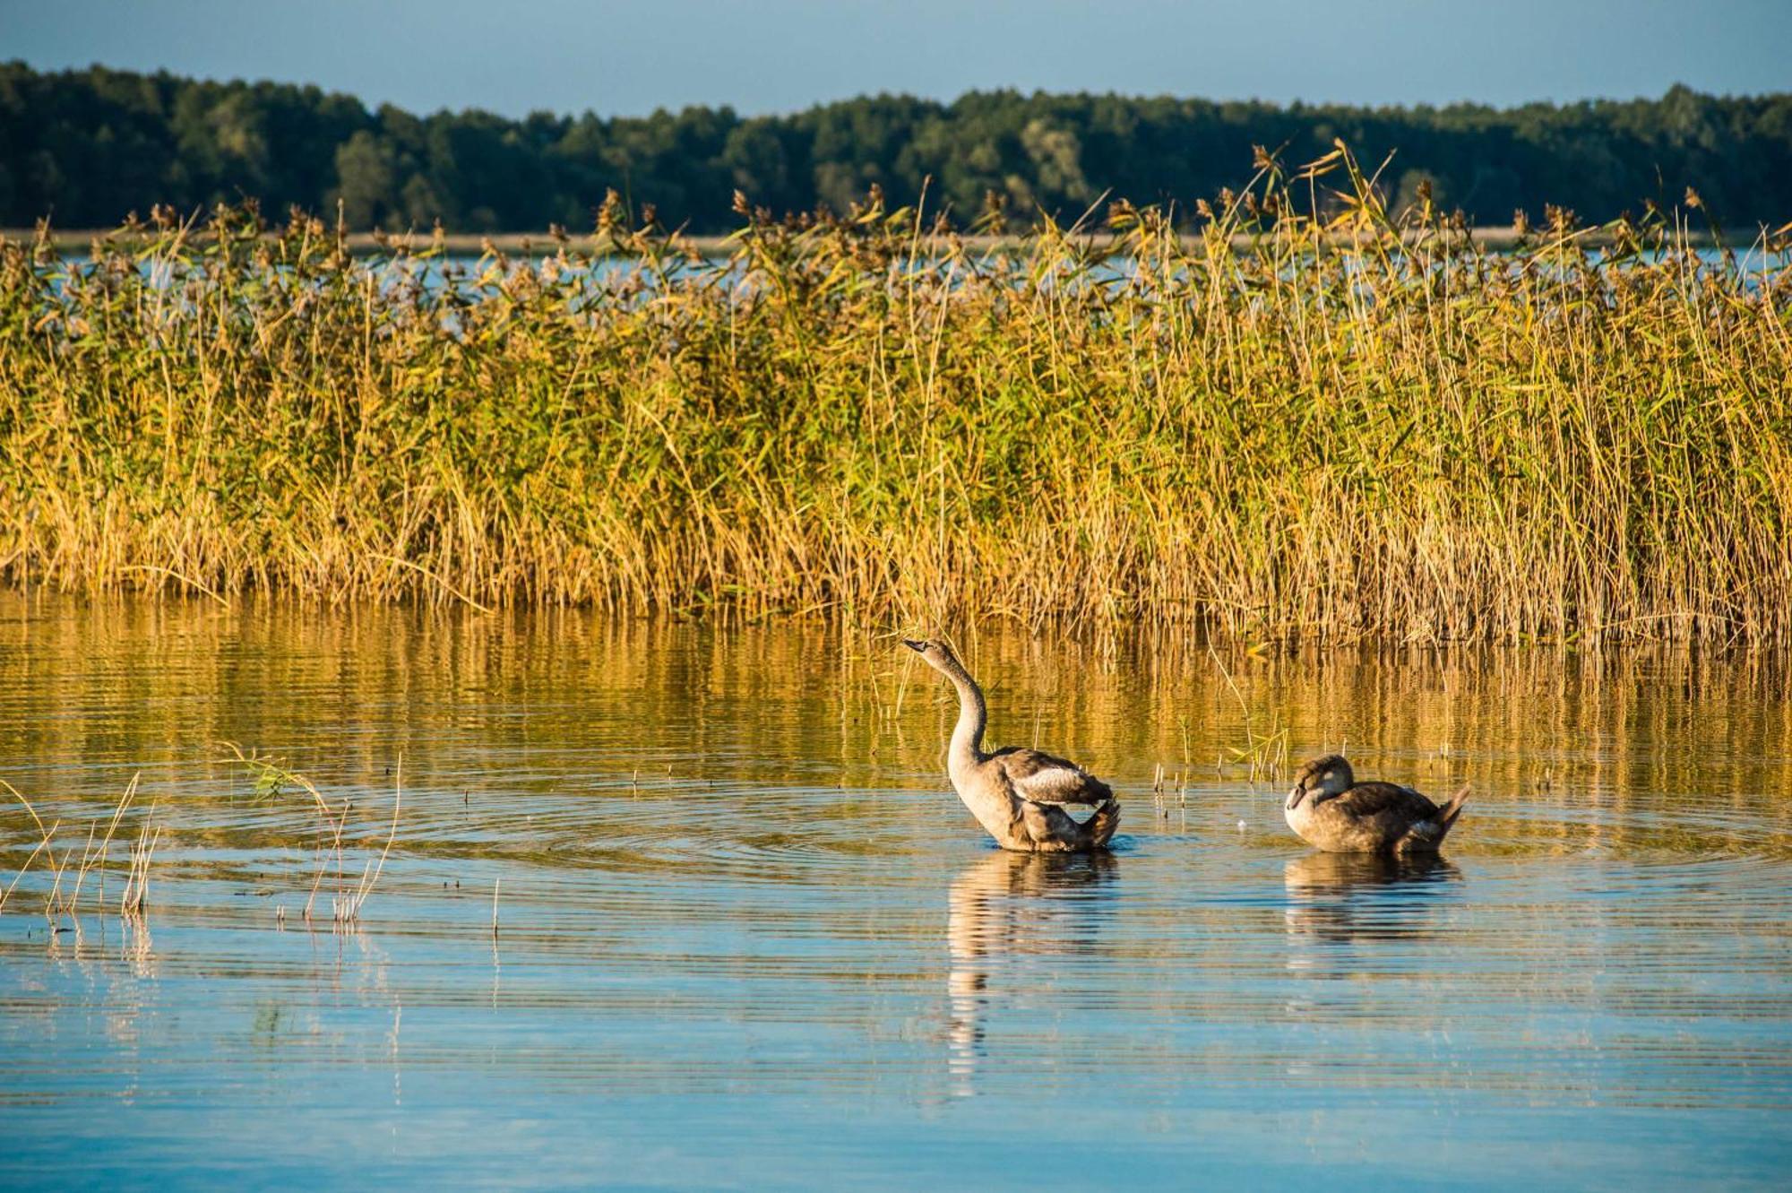
[[[1439,808],[1410,786],[1358,783],[1342,754],[1326,754],[1294,776],[1283,817],[1328,853],[1435,853],[1466,801],[1468,786]]]

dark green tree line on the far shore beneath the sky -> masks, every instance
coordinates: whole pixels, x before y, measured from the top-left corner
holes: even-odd
[[[0,224],[100,227],[151,204],[192,211],[258,199],[375,226],[532,231],[591,226],[609,190],[694,233],[738,226],[735,192],[774,213],[837,211],[883,190],[969,220],[995,195],[1012,222],[1077,219],[1102,195],[1177,204],[1333,138],[1382,185],[1477,224],[1586,220],[1670,206],[1695,188],[1727,224],[1792,219],[1792,93],[1487,107],[1348,107],[1170,97],[973,91],[953,102],[874,95],[778,116],[686,107],[604,118],[400,107],[280,82],[211,82],[91,66],[0,64]]]

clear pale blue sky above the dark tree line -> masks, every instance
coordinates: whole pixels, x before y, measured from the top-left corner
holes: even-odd
[[[403,107],[792,111],[973,88],[1444,104],[1792,90],[1792,0],[0,0],[0,57]]]

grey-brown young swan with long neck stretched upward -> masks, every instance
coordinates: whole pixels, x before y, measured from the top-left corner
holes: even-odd
[[[1120,826],[1113,790],[1077,763],[1039,751],[1011,745],[986,754],[984,690],[946,643],[903,638],[903,645],[959,690],[959,724],[946,747],[946,774],[952,790],[996,844],[1020,853],[1106,849]],[[1090,804],[1095,813],[1079,824],[1063,804]]]

